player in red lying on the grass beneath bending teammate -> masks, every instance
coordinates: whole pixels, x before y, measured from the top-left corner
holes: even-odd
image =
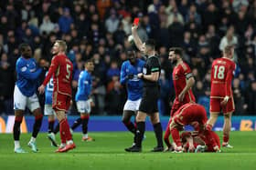
[[[220,147],[219,135],[213,131],[210,131],[210,135],[218,147]],[[206,135],[203,133],[198,134],[197,132],[183,132],[180,137],[184,152],[216,152],[213,142],[208,140]]]

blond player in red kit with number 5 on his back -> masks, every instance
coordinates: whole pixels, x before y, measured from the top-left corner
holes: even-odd
[[[43,94],[45,86],[53,75],[52,108],[55,110],[59,120],[61,145],[56,152],[60,153],[67,152],[76,147],[69,131],[69,123],[66,116],[71,101],[71,80],[73,71],[73,65],[68,56],[65,55],[66,50],[66,42],[57,40],[52,48],[52,54],[55,56],[51,60],[48,75],[46,76],[43,85],[38,88],[39,93]]]

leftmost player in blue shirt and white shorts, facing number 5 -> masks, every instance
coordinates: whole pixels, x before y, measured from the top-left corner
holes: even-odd
[[[16,86],[14,92],[14,109],[15,109],[15,125],[13,135],[15,140],[15,153],[26,153],[20,144],[20,125],[23,119],[26,107],[35,115],[35,124],[33,133],[28,146],[33,152],[37,152],[36,138],[42,125],[43,115],[36,95],[37,78],[41,74],[42,69],[37,68],[36,60],[31,58],[32,50],[27,44],[19,45],[21,56],[16,61]]]

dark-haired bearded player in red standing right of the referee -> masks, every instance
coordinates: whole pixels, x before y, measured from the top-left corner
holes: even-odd
[[[169,60],[172,64],[175,65],[173,70],[173,81],[176,91],[176,98],[172,106],[170,117],[176,113],[177,109],[187,103],[195,103],[196,99],[192,93],[191,87],[195,84],[194,76],[191,72],[190,67],[182,59],[183,50],[182,48],[173,47],[169,50]],[[169,141],[170,130],[169,125],[171,121],[169,120],[168,125],[165,130],[165,144],[167,148],[165,151],[168,151],[171,144]]]

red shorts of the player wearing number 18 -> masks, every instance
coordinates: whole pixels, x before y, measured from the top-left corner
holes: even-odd
[[[220,111],[223,114],[227,114],[235,111],[234,99],[231,97],[227,103],[227,105],[220,105],[223,98],[210,98],[209,101],[209,112],[219,114]]]

